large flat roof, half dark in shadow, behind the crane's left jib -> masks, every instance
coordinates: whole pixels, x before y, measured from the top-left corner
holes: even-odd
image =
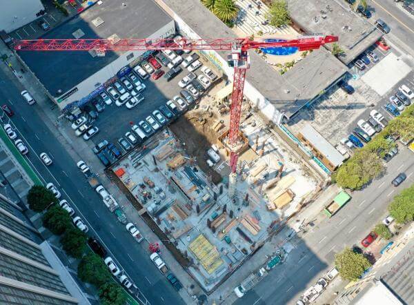
[[[123,4],[126,4],[124,6]],[[100,18],[103,23],[95,26],[92,21]],[[172,19],[152,0],[112,0],[95,4],[81,12],[75,19],[53,28],[43,39],[74,39],[73,33],[81,30],[86,38],[108,39],[147,38]],[[117,59],[124,52],[106,52],[104,57],[92,57],[88,52],[19,52],[51,95],[76,86],[101,68]],[[117,71],[114,71],[114,74]]]

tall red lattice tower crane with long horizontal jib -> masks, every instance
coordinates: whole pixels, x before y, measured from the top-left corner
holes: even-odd
[[[105,51],[126,50],[228,50],[227,61],[234,68],[233,93],[230,106],[230,131],[228,144],[234,148],[239,137],[243,89],[246,70],[250,67],[248,50],[258,48],[296,47],[299,51],[315,50],[325,43],[338,41],[336,36],[305,35],[297,39],[276,40],[249,38],[227,39],[37,39],[16,41],[17,51]],[[238,154],[230,150],[230,167],[236,172]]]

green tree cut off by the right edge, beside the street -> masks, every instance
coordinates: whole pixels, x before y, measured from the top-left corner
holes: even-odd
[[[414,185],[395,196],[388,210],[399,224],[412,222],[414,219]]]

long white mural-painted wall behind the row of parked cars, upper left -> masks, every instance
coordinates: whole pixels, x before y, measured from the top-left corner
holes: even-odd
[[[0,0],[1,1],[1,0]],[[155,32],[154,34],[150,35],[148,38],[164,38],[168,37],[175,33],[175,22],[171,20],[169,23],[167,23],[163,28],[160,28]],[[126,59],[128,55],[131,53],[134,54],[133,57],[130,59]],[[62,101],[61,103],[57,104],[59,108],[64,108],[66,105],[71,103],[72,101],[78,101],[82,99],[83,97],[86,97],[86,95],[90,94],[95,88],[99,87],[102,83],[105,83],[110,79],[111,77],[114,77],[117,72],[127,66],[132,61],[136,60],[140,55],[144,54],[144,51],[128,51],[125,52],[123,55],[112,61],[108,66],[105,66],[98,72],[95,72],[93,75],[90,75],[87,79],[84,81],[81,81],[76,87],[70,88],[68,92],[71,90],[75,90],[77,88],[77,91],[70,95],[65,101]],[[66,92],[65,92],[66,93]],[[63,94],[64,95],[64,94]]]

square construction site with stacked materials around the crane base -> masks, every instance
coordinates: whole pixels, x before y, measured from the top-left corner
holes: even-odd
[[[230,121],[224,81],[144,150],[112,167],[179,253],[213,291],[317,193],[319,180],[245,100],[235,189],[229,190]]]

